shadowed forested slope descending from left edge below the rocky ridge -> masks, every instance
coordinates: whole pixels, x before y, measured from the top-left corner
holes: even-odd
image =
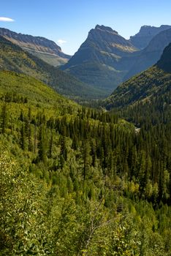
[[[11,70],[30,75],[47,85],[52,86],[60,94],[74,99],[101,97],[102,93],[80,82],[72,75],[58,70],[36,56],[25,52],[18,45],[0,36],[0,69]]]

